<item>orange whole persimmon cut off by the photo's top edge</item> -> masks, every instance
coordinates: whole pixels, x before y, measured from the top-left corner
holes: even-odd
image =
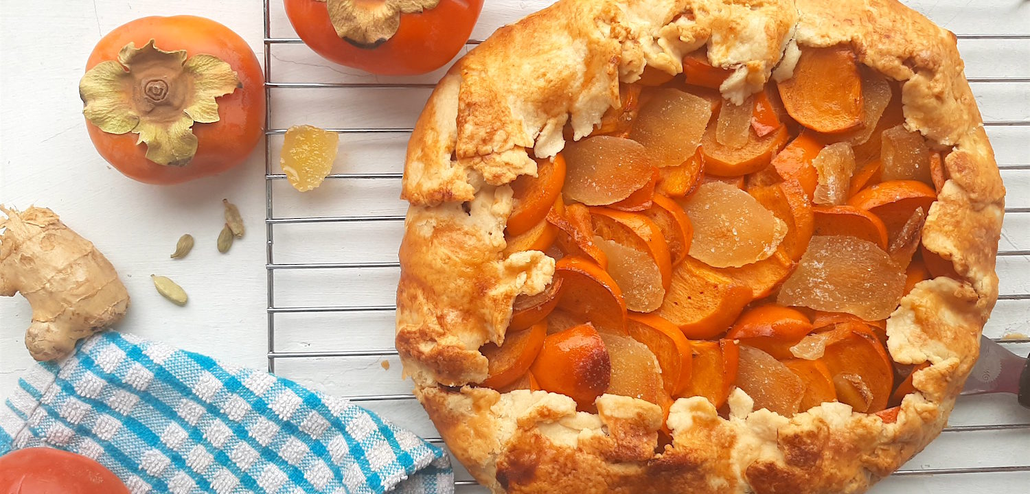
[[[414,75],[465,46],[483,0],[285,0],[286,16],[311,49],[373,74]]]

